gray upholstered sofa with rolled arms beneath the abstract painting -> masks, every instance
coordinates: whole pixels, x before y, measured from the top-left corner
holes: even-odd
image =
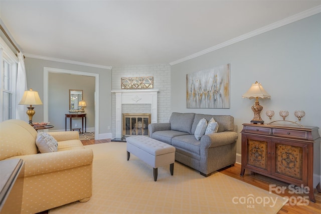
[[[197,140],[194,136],[197,124],[202,118],[209,121],[212,117],[219,124],[218,132]],[[235,163],[238,134],[232,116],[173,112],[169,123],[151,123],[148,130],[149,137],[176,148],[177,161],[203,176]]]

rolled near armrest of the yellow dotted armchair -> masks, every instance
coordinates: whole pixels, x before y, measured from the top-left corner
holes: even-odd
[[[25,177],[92,164],[92,149],[74,149],[15,156],[25,161]],[[9,159],[9,158],[8,158]]]

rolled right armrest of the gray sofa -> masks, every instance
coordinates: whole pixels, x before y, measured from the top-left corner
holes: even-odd
[[[201,138],[201,147],[211,148],[234,143],[238,135],[234,131],[223,131],[206,134]]]

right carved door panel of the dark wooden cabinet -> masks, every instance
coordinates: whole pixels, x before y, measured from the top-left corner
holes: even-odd
[[[307,144],[273,140],[272,148],[272,174],[306,184]]]

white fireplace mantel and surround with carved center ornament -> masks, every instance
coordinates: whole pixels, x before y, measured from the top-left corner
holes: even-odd
[[[116,138],[122,136],[122,104],[151,104],[151,123],[157,122],[158,90],[119,90],[116,95]]]

